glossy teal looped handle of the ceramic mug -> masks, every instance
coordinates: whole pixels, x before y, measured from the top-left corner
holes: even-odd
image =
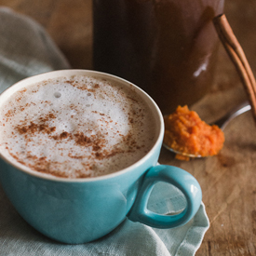
[[[186,208],[176,215],[157,214],[147,209],[147,202],[156,182],[168,182],[179,188],[187,200]],[[183,170],[172,166],[158,165],[146,173],[134,205],[128,212],[128,219],[155,228],[173,228],[189,222],[200,207],[202,190],[195,178]]]

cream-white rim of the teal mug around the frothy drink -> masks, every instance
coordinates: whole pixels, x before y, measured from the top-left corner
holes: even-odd
[[[159,128],[157,128],[158,131],[158,135],[156,134],[156,139],[155,139],[155,143],[152,146],[152,148],[150,149],[150,151],[144,155],[143,157],[141,157],[141,159],[135,163],[133,163],[132,165],[128,166],[127,168],[122,168],[120,170],[117,170],[113,173],[109,173],[109,174],[104,174],[101,176],[97,176],[97,177],[88,177],[88,178],[64,178],[64,177],[58,177],[58,176],[54,176],[51,174],[46,174],[46,173],[42,173],[42,172],[38,172],[36,170],[32,170],[30,168],[27,168],[26,166],[23,165],[19,165],[16,162],[12,162],[10,159],[8,159],[5,155],[3,155],[0,152],[0,158],[2,158],[2,160],[6,161],[8,164],[10,164],[11,166],[19,169],[22,172],[25,172],[28,175],[43,179],[43,180],[49,180],[52,182],[95,182],[95,181],[101,181],[101,180],[107,180],[107,179],[111,179],[111,178],[115,178],[116,176],[119,176],[123,173],[126,173],[134,168],[138,168],[139,166],[141,166],[142,163],[146,162],[149,158],[151,158],[152,155],[154,155],[154,152],[156,150],[156,148],[158,147],[159,143],[162,143],[163,137],[164,137],[164,118],[163,115],[159,109],[159,107],[157,106],[157,104],[155,103],[155,101],[151,98],[151,96],[149,96],[144,90],[142,90],[141,88],[139,88],[138,86],[136,86],[135,84],[129,82],[128,80],[121,78],[119,76],[116,76],[114,74],[107,74],[107,73],[103,73],[103,72],[98,72],[98,71],[93,71],[93,70],[86,70],[86,69],[66,69],[66,70],[57,70],[57,71],[50,71],[50,72],[46,72],[46,73],[42,73],[42,74],[35,74],[33,76],[29,76],[26,77],[24,79],[21,79],[20,81],[18,81],[17,83],[13,84],[12,86],[10,86],[9,88],[7,88],[6,90],[4,90],[1,94],[0,94],[0,108],[1,108],[1,100],[3,97],[5,97],[7,95],[7,98],[12,95],[14,92],[16,92],[17,90],[19,90],[20,88],[24,88],[24,86],[22,86],[23,84],[28,82],[28,85],[32,85],[36,82],[39,81],[44,81],[50,78],[55,78],[58,76],[62,76],[62,75],[79,75],[79,74],[84,74],[84,75],[92,75],[92,74],[98,74],[100,76],[100,78],[102,77],[110,77],[113,80],[117,80],[119,82],[121,82],[122,84],[125,84],[126,86],[130,85],[132,86],[132,88],[136,89],[137,91],[140,91],[140,95],[142,97],[144,97],[144,99],[147,99],[147,102],[150,102],[150,104],[152,106],[154,106],[154,110],[153,114],[158,120],[155,120],[155,123],[157,125],[157,123],[159,123]],[[47,76],[47,77],[46,77]],[[35,80],[35,81],[34,81]],[[20,88],[19,88],[20,86]],[[17,90],[15,90],[14,92],[11,92],[13,90],[13,88],[17,88]],[[3,101],[4,102],[4,101]]]

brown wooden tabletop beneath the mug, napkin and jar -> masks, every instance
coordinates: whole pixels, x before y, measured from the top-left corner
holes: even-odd
[[[41,23],[73,68],[91,69],[91,0],[0,0]],[[226,0],[225,14],[256,72],[256,1]],[[220,47],[216,82],[193,109],[206,121],[246,99],[233,63]],[[250,113],[225,128],[218,156],[181,162],[163,149],[159,162],[186,169],[203,190],[210,227],[196,256],[256,255],[256,127]]]

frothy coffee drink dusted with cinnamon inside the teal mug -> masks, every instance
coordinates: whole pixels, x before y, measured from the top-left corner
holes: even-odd
[[[20,168],[98,177],[134,164],[155,143],[154,116],[134,91],[93,76],[21,88],[0,110],[0,151]]]

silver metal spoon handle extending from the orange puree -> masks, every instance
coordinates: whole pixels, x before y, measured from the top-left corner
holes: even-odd
[[[222,116],[221,119],[219,119],[216,122],[213,122],[214,125],[217,125],[222,130],[227,126],[227,124],[234,119],[237,115],[241,115],[251,109],[251,106],[249,104],[249,101],[244,101],[240,105],[238,105],[235,109],[233,109],[228,114]]]

